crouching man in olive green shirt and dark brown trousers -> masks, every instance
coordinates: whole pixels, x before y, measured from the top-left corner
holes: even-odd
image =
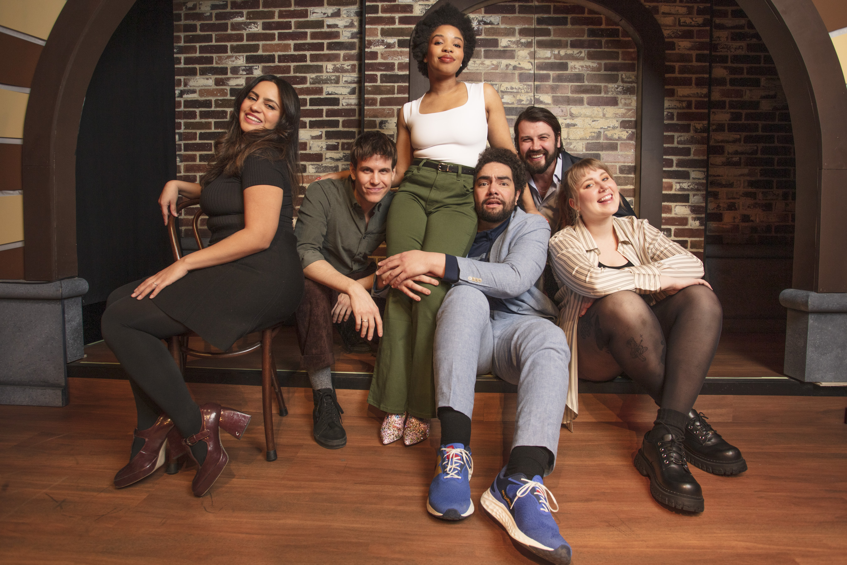
[[[370,296],[376,265],[368,256],[385,241],[396,163],[394,141],[368,131],[353,142],[350,176],[313,182],[297,213],[294,233],[306,275],[297,339],[313,388],[314,437],[328,449],[347,441],[330,374],[333,323],[352,314],[362,337],[382,335],[379,307]]]

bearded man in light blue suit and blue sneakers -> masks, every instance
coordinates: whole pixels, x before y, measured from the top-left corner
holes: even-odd
[[[570,352],[552,321],[556,306],[540,290],[550,227],[540,215],[516,207],[526,178],[514,153],[486,149],[474,172],[479,223],[468,257],[405,252],[379,263],[377,274],[412,298],[413,291],[425,291],[411,281],[402,284],[414,276],[453,285],[435,330],[441,446],[427,510],[445,520],[473,513],[473,389],[478,374],[492,372],[518,385],[518,407],[509,461],[484,492],[482,505],[529,551],[569,563],[571,548],[551,516],[558,507],[543,477],[556,461]]]

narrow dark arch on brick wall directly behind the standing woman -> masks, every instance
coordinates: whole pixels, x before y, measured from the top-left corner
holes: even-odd
[[[438,0],[429,9],[451,3],[465,14],[502,0]],[[665,36],[650,10],[637,0],[567,0],[612,19],[638,48],[635,133],[635,202],[640,218],[662,225],[662,152],[665,125]],[[429,80],[409,51],[409,100],[424,95]]]

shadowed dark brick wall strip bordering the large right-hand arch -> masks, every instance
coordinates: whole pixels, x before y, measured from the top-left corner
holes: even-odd
[[[717,0],[707,243],[794,243],[794,138],[785,94],[756,28]]]

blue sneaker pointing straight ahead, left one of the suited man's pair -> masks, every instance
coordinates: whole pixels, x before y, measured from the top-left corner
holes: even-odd
[[[463,520],[473,514],[471,501],[471,452],[461,443],[441,446],[435,477],[429,485],[427,511],[442,520]]]

